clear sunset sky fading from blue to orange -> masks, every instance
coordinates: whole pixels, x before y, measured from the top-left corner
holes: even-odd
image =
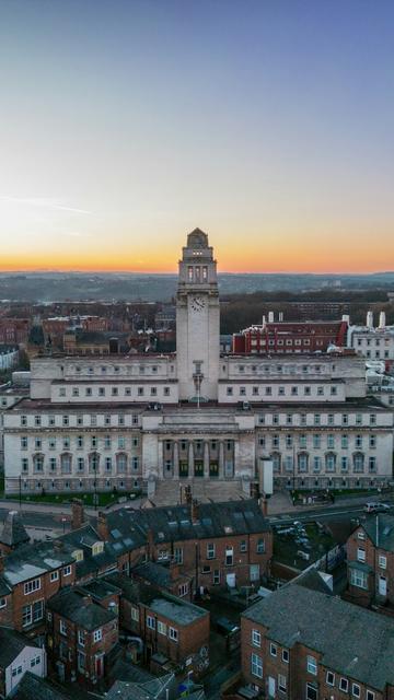
[[[0,0],[0,270],[394,269],[392,0]]]

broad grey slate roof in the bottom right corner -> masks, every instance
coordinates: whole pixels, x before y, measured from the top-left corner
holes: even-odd
[[[383,691],[394,685],[394,620],[336,596],[291,584],[242,614],[268,628],[267,637],[322,654],[322,664]]]

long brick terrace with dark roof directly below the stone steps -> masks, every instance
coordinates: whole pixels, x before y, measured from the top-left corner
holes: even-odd
[[[174,561],[193,592],[259,585],[268,574],[273,533],[254,499],[100,513],[97,532],[117,553],[119,569]]]

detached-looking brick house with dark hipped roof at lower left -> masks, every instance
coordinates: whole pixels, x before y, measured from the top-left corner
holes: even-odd
[[[118,614],[83,588],[59,591],[47,604],[49,657],[66,680],[95,684],[111,666],[118,644]]]

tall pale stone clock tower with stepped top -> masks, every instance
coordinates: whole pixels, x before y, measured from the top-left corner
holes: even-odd
[[[220,349],[217,262],[207,234],[199,229],[188,234],[182,252],[176,298],[179,399],[217,400]]]

